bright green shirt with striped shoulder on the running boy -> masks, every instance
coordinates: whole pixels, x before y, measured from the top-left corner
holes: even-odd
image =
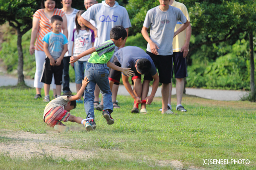
[[[88,62],[94,64],[107,64],[115,52],[115,43],[112,40],[103,42],[100,45],[96,45],[96,51],[90,56]]]

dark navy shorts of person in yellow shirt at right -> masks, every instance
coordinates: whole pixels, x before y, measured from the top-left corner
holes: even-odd
[[[188,77],[186,57],[183,57],[183,52],[174,52],[172,54],[174,63],[174,75],[175,78]]]

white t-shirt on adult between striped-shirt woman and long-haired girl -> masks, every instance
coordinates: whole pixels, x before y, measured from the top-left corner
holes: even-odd
[[[70,14],[65,14],[67,17],[67,33],[68,33],[68,44],[67,44],[67,53],[64,55],[64,57],[67,56],[71,56],[71,51],[72,51],[72,46],[73,46],[73,42],[72,42],[72,37],[73,37],[73,29],[76,26],[76,13],[78,12],[78,9],[73,10],[73,12],[71,12]]]

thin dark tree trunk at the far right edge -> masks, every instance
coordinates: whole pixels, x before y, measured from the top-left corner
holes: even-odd
[[[249,42],[250,42],[250,66],[251,66],[251,76],[250,76],[250,88],[251,96],[255,94],[255,82],[254,82],[254,55],[253,55],[253,33],[249,33]]]

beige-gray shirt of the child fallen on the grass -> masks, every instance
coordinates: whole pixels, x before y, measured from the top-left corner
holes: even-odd
[[[56,99],[53,99],[52,101],[50,101],[44,109],[44,116],[46,115],[46,113],[48,113],[52,108],[61,106],[63,109],[66,108],[67,103],[70,102],[70,100],[67,98],[70,96],[59,96]],[[44,117],[43,117],[44,119]]]

